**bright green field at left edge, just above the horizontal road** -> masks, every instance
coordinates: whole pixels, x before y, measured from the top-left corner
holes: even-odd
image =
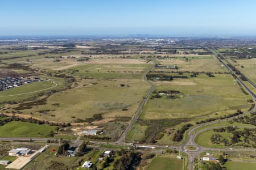
[[[42,137],[45,138],[55,126],[38,125],[29,122],[12,121],[0,126],[0,137]]]

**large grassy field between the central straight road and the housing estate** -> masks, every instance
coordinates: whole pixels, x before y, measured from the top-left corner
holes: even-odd
[[[125,84],[125,87],[120,84]],[[32,112],[35,117],[64,122],[93,117],[99,113],[105,118],[131,117],[148,89],[149,84],[138,79],[81,80],[79,86],[48,97],[46,105],[22,112]],[[123,108],[128,110],[122,111]],[[51,110],[49,114],[39,113],[47,109]],[[54,117],[51,116],[53,114]],[[71,118],[72,116],[76,118]]]

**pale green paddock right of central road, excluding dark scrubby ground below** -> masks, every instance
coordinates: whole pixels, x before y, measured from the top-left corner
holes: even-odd
[[[196,78],[175,79],[171,82],[155,82],[156,91],[176,90],[182,96],[178,99],[148,100],[141,118],[154,120],[164,118],[189,118],[234,113],[237,109],[249,107],[246,96],[229,74],[215,74],[209,78],[200,74]]]

